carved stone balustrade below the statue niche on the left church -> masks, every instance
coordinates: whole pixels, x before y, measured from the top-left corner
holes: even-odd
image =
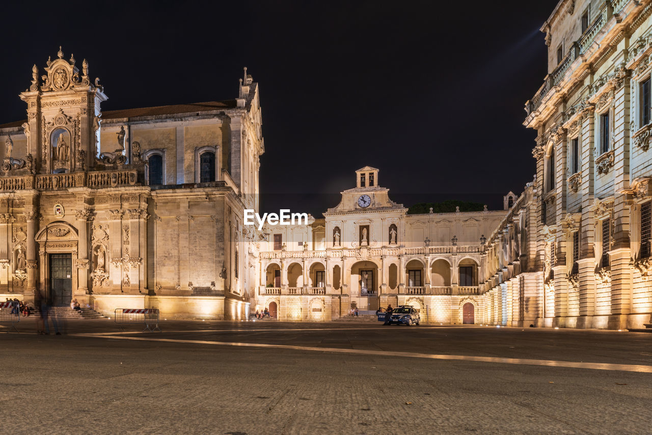
[[[71,187],[126,187],[138,181],[137,170],[48,173],[0,177],[0,190],[64,190]]]

